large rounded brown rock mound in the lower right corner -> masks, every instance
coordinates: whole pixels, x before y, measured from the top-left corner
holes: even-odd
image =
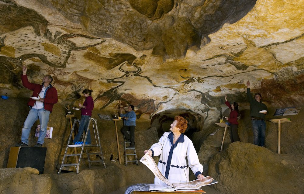
[[[275,154],[264,147],[235,142],[210,161],[209,174],[223,193],[301,193],[301,160]]]

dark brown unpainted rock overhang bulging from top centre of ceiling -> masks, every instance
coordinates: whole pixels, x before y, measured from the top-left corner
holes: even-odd
[[[153,49],[152,54],[166,59],[184,57],[189,48],[204,46],[201,40],[208,39],[225,23],[239,21],[256,0],[48,2],[48,6],[53,5],[70,21],[81,23],[94,36],[111,36],[136,50]]]

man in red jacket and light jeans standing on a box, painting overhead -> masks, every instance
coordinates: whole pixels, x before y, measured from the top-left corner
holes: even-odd
[[[42,79],[42,84],[30,83],[26,75],[27,68],[23,65],[22,67],[22,84],[24,87],[33,90],[33,97],[38,97],[38,100],[29,99],[27,105],[30,107],[29,114],[23,124],[21,143],[16,144],[16,146],[28,146],[29,144],[29,133],[36,122],[40,121],[40,131],[37,144],[35,147],[42,147],[44,142],[44,137],[47,134],[47,123],[49,122],[49,116],[52,112],[53,105],[57,103],[58,96],[57,90],[50,83],[53,78],[50,75],[46,75]]]

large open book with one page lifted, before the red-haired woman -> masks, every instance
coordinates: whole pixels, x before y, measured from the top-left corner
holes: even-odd
[[[148,152],[143,156],[143,158],[140,159],[140,162],[146,165],[157,178],[159,178],[161,181],[164,182],[163,184],[150,184],[150,188],[149,188],[150,191],[176,191],[176,190],[193,191],[193,190],[199,190],[200,187],[202,186],[212,185],[217,183],[217,181],[211,178],[210,176],[206,176],[201,180],[196,179],[190,182],[171,183],[166,177],[164,177],[164,175],[161,174],[161,171],[159,171],[155,161]]]

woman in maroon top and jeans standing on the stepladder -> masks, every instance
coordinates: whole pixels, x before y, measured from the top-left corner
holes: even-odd
[[[73,140],[74,144],[77,141],[80,141],[83,130],[85,130],[85,132],[87,132],[90,117],[92,116],[92,110],[94,108],[94,101],[91,96],[92,92],[93,92],[93,90],[89,90],[89,89],[85,89],[82,92],[82,94],[85,96],[85,102],[83,103],[83,105],[81,105],[81,103],[79,103],[79,107],[81,108],[81,119],[79,122],[78,134],[76,135],[76,137]],[[90,130],[88,132],[86,142],[88,142],[88,144],[91,144]]]

